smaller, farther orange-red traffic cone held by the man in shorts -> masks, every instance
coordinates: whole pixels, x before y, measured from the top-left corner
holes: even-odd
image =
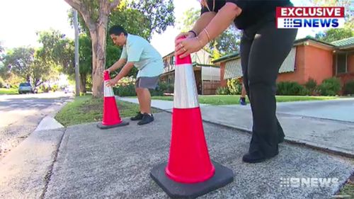
[[[103,119],[102,123],[98,123],[97,127],[101,129],[108,129],[113,127],[120,127],[129,125],[129,123],[123,121],[120,118],[117,104],[115,103],[115,96],[112,87],[108,87],[105,84],[110,80],[108,72],[104,73],[104,98],[103,98]]]

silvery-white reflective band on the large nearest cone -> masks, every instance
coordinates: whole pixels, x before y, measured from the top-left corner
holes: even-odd
[[[174,108],[199,107],[198,91],[192,64],[180,64],[175,67]]]

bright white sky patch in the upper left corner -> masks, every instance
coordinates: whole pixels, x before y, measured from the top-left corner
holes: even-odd
[[[1,44],[5,47],[37,47],[36,32],[50,28],[74,38],[74,29],[67,17],[69,8],[64,0],[1,0]]]

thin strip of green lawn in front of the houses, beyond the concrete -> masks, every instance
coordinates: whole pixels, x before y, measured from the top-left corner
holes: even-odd
[[[240,96],[198,96],[199,103],[211,105],[229,105],[238,104]],[[332,96],[276,96],[277,102],[285,101],[321,101],[336,99]],[[153,96],[152,99],[173,101],[173,96]],[[247,102],[249,103],[248,99]]]

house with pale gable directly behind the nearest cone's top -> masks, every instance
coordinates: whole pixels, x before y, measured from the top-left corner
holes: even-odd
[[[197,85],[198,94],[215,94],[216,89],[220,86],[220,69],[218,66],[212,64],[210,53],[205,50],[200,50],[192,53],[190,56],[192,58],[195,84]],[[160,81],[167,84],[173,84],[176,62],[174,52],[164,56],[163,60],[164,74],[161,74]]]

